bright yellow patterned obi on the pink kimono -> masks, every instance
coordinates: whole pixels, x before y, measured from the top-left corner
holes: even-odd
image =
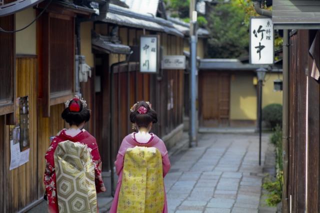
[[[117,213],[162,213],[162,157],[154,147],[128,148],[124,155]]]

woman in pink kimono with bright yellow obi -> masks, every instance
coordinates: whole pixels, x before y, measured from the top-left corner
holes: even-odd
[[[110,213],[167,213],[163,178],[170,162],[163,141],[149,133],[157,122],[156,112],[144,101],[130,111],[138,132],[127,135],[119,148],[115,161],[119,178]]]

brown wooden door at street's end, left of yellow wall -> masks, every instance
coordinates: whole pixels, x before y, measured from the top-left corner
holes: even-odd
[[[201,71],[199,74],[199,104],[201,126],[228,126],[230,75]]]

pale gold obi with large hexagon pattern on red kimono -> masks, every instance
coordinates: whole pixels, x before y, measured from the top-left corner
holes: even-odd
[[[96,213],[94,165],[88,148],[63,141],[54,151],[59,213]]]

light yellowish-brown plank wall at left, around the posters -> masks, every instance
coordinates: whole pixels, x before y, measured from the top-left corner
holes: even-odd
[[[9,126],[5,125],[3,116],[0,119],[1,184],[0,212],[15,212],[37,200],[37,128],[36,128],[36,58],[18,57],[16,59],[16,95],[29,96],[29,162],[9,171],[10,142]]]

